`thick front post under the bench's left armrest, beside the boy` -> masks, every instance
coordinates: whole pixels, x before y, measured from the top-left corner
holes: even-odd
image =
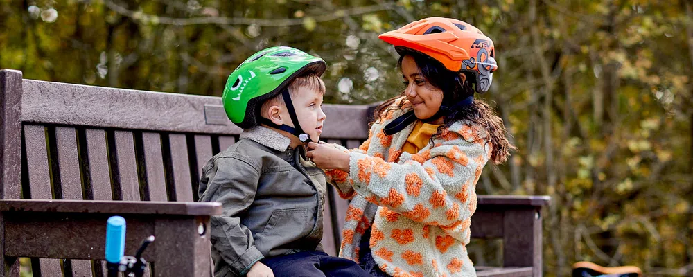
[[[211,276],[209,217],[157,219],[155,237],[154,276]]]

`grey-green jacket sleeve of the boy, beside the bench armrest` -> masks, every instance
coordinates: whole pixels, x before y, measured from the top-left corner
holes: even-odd
[[[240,215],[252,204],[260,179],[260,166],[252,159],[222,157],[203,172],[207,190],[200,201],[220,202],[222,215],[210,219],[212,247],[229,264],[231,271],[245,276],[250,267],[264,258],[255,247],[250,230],[240,224]]]

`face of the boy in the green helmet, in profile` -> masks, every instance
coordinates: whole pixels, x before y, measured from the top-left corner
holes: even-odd
[[[301,128],[310,136],[311,140],[317,142],[320,139],[322,125],[327,117],[325,113],[322,112],[322,93],[316,89],[299,87],[298,91],[292,94],[294,96],[291,97],[291,100],[294,104],[296,117],[299,119]],[[282,118],[291,118],[286,108],[282,109],[281,116]],[[287,121],[290,121],[290,119]],[[285,124],[295,127],[294,124],[289,122]]]

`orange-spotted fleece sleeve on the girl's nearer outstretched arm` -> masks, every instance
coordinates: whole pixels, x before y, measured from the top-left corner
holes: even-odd
[[[348,182],[381,216],[405,216],[447,230],[464,228],[476,208],[475,184],[488,161],[489,143],[460,136],[430,151],[403,153],[400,163],[351,152]]]

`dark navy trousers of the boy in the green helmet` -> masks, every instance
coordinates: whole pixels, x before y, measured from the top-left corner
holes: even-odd
[[[303,251],[260,260],[275,277],[369,276],[356,262],[320,251]]]

